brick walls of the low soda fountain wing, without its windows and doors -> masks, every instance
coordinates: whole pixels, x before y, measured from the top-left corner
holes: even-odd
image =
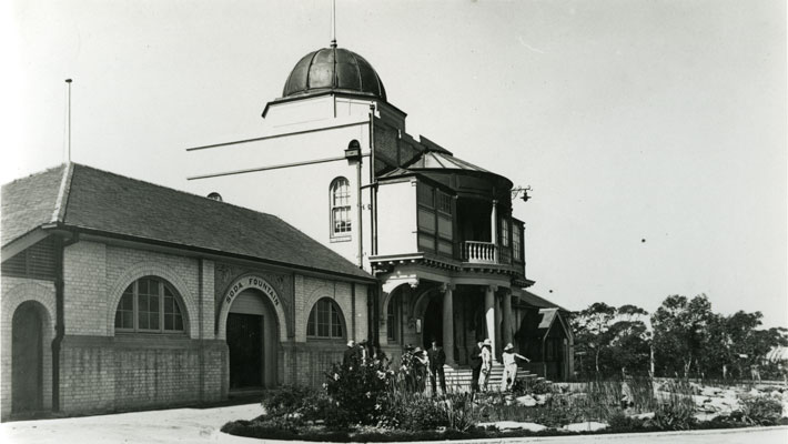
[[[240,273],[240,274],[236,274]],[[277,291],[283,310],[276,350],[277,382],[321,385],[324,371],[342,361],[345,340],[306,340],[306,322],[320,297],[333,299],[347,337],[367,335],[366,286],[247,265],[81,241],[64,252],[65,336],[60,354],[60,406],[67,414],[115,412],[214,402],[228,396],[229,352],[216,304],[239,275],[256,274]],[[166,280],[182,299],[184,334],[115,333],[114,313],[135,280]],[[11,326],[24,301],[41,305],[44,321],[44,408],[51,408],[55,299],[51,282],[2,281],[2,404],[11,412]],[[285,320],[286,319],[286,320]],[[355,323],[353,322],[355,320]],[[355,325],[355,330],[353,330]]]

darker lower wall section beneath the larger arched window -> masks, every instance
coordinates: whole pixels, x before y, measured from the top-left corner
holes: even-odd
[[[65,336],[61,410],[97,413],[219,401],[226,396],[225,359],[226,345],[216,341]],[[201,365],[209,369],[202,391]]]

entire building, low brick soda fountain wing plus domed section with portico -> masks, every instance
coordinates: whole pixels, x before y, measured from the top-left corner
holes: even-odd
[[[80,164],[3,186],[3,420],[316,385],[363,339],[394,362],[435,340],[468,375],[477,341],[512,342],[572,376],[567,312],[526,291],[512,181],[410,135],[335,44],[263,118],[188,150],[194,194]]]

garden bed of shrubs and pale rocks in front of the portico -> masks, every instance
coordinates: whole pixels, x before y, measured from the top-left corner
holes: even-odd
[[[265,414],[234,421],[239,436],[319,442],[410,442],[788,425],[785,387],[718,387],[650,379],[572,387],[517,384],[512,393],[437,396],[376,364],[336,366],[324,390],[283,387]]]

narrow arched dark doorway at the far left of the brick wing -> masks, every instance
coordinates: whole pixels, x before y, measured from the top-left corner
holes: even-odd
[[[42,322],[32,302],[13,313],[11,342],[11,410],[37,412],[43,402]]]

